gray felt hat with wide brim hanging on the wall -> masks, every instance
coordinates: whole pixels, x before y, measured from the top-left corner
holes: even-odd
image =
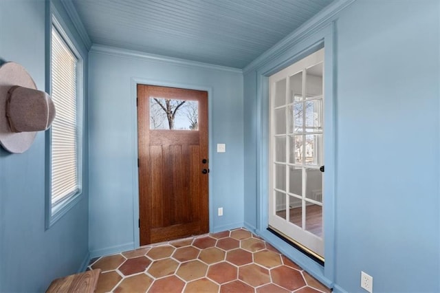
[[[55,118],[54,102],[36,89],[32,77],[19,64],[0,67],[0,144],[11,153],[23,153],[36,131],[46,130]]]

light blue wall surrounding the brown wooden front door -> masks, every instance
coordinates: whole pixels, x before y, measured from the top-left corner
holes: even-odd
[[[139,245],[135,80],[209,91],[210,230],[243,226],[241,72],[92,47],[89,54],[91,255]],[[226,144],[226,153],[215,151],[217,143]],[[217,217],[217,208],[221,206],[223,217]]]

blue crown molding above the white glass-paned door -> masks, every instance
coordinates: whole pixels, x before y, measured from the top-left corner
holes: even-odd
[[[337,0],[331,3],[329,6],[318,12],[314,17],[306,21],[298,29],[294,30],[291,34],[287,35],[284,39],[276,43],[269,50],[261,54],[249,65],[243,68],[243,73],[250,72],[252,70],[259,69],[272,60],[283,55],[287,50],[292,48],[297,43],[300,43],[304,39],[321,30],[325,26],[329,25],[331,21],[336,19],[338,14],[354,3],[356,0]]]

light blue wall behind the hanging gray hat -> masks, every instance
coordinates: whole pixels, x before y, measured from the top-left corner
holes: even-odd
[[[23,65],[42,90],[45,5],[0,1],[0,58]],[[83,199],[45,230],[44,133],[23,154],[0,147],[0,292],[41,292],[52,279],[80,270],[88,259],[87,227],[85,186]]]

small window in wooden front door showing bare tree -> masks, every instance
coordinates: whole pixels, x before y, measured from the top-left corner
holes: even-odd
[[[198,130],[198,118],[197,101],[150,98],[150,129]]]

